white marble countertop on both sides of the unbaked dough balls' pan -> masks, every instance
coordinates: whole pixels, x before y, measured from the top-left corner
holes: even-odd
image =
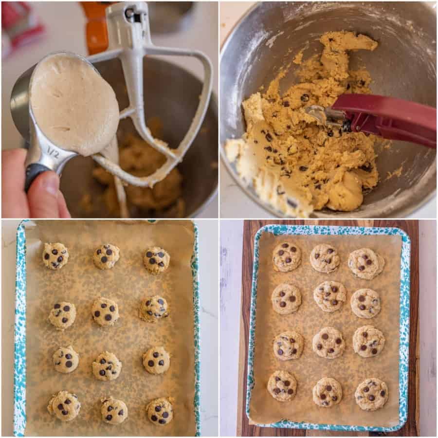
[[[15,232],[19,220],[2,220],[1,435],[13,434]],[[201,434],[218,436],[218,220],[195,220],[199,229],[201,307]]]

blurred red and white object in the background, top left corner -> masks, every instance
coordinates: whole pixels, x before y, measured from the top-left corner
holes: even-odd
[[[25,1],[1,2],[1,29],[9,37],[12,49],[35,41],[44,34],[44,25]]]

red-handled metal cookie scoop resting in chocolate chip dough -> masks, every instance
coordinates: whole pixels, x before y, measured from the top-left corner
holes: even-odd
[[[364,132],[388,140],[436,149],[437,110],[426,105],[374,94],[342,94],[329,108],[310,105],[310,116],[343,132]]]

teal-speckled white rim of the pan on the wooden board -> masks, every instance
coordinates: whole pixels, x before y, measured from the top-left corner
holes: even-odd
[[[392,427],[349,426],[340,424],[317,424],[280,420],[270,424],[255,424],[259,427],[283,427],[289,429],[344,430],[354,432],[393,432],[400,429],[408,414],[408,368],[409,368],[409,301],[411,241],[400,228],[346,227],[324,225],[265,225],[254,238],[253,279],[251,285],[250,330],[248,344],[248,372],[246,381],[246,415],[250,419],[251,393],[254,387],[254,347],[256,334],[256,298],[259,263],[259,240],[263,233],[280,235],[333,235],[333,236],[401,236],[402,261],[400,271],[400,346],[399,346],[399,424]]]

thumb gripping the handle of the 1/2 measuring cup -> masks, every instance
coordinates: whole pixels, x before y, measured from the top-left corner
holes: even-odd
[[[31,218],[59,218],[59,177],[55,172],[40,173],[27,192]]]

